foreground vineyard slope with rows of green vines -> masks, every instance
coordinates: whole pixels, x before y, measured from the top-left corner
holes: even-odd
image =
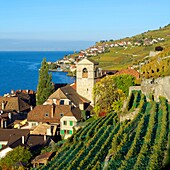
[[[161,169],[168,162],[170,105],[165,98],[147,102],[133,91],[127,111],[133,120],[119,121],[112,112],[86,125],[58,148],[40,169]]]

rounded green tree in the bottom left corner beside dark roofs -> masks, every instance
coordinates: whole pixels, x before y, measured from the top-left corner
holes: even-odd
[[[31,152],[28,148],[18,146],[12,151],[9,151],[7,155],[0,160],[0,166],[2,169],[12,169],[17,162],[28,163],[31,159]]]

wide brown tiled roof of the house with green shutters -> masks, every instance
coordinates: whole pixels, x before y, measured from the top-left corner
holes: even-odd
[[[28,113],[28,121],[60,123],[61,113],[71,111],[70,105],[39,105]]]

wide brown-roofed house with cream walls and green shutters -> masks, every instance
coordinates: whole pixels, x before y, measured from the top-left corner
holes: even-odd
[[[29,112],[27,121],[29,127],[34,128],[32,134],[55,136],[60,133],[67,138],[73,134],[73,127],[82,119],[82,112],[78,107],[52,104],[36,106]],[[45,125],[48,128],[44,131]]]

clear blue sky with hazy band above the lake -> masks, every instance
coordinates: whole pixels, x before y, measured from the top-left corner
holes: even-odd
[[[0,0],[0,50],[79,50],[170,23],[169,0]]]

